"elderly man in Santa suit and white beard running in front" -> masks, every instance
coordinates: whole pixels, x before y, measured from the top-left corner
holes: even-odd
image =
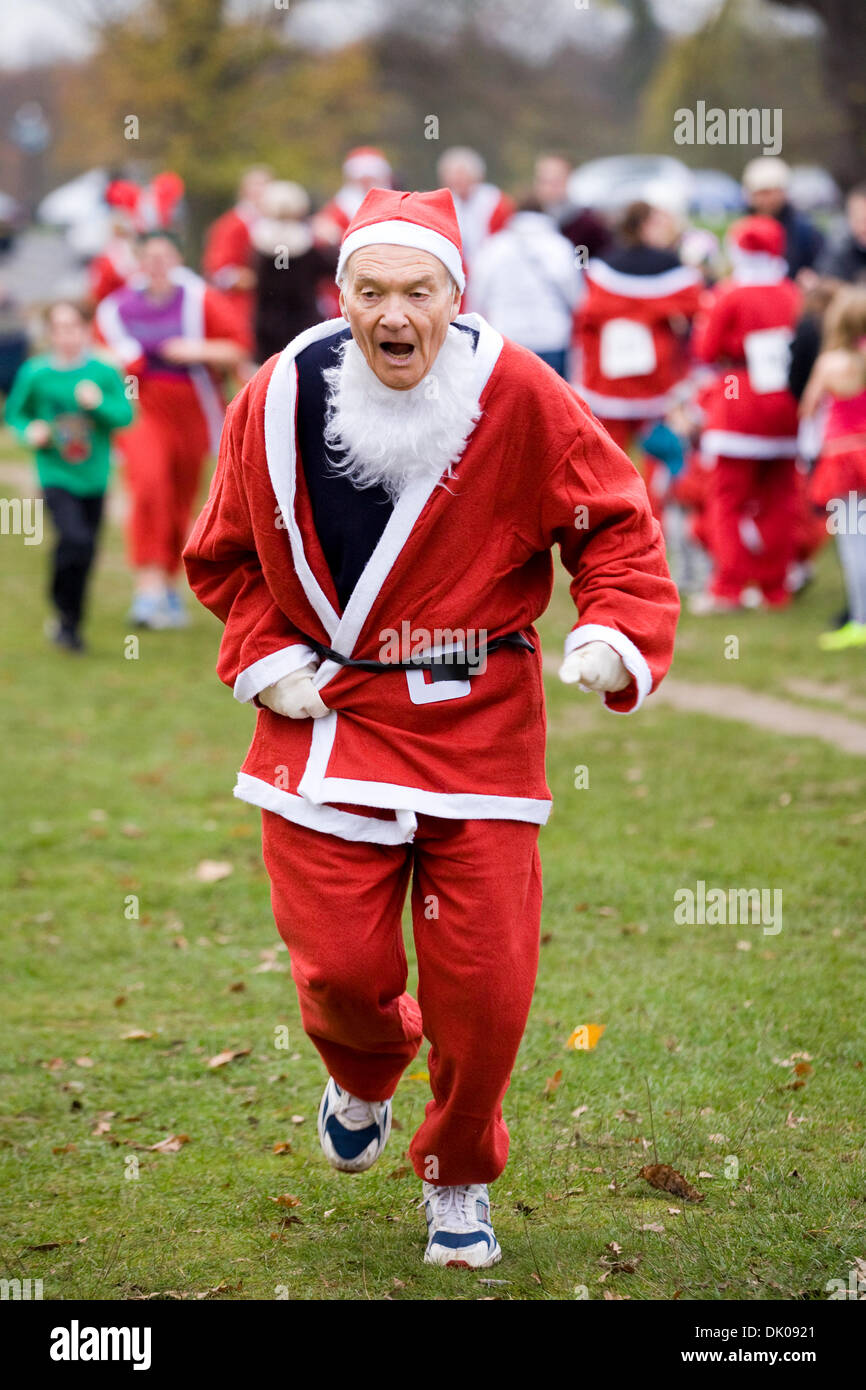
[[[450,193],[373,190],[342,243],[345,318],[232,402],[185,550],[259,706],[235,795],[263,809],[274,913],[329,1079],[328,1161],[370,1168],[423,1036],[410,1144],[425,1259],[491,1265],[487,1184],[538,966],[548,819],[541,651],[559,543],[580,623],[560,676],[637,709],[678,598],[635,470],[570,386],[459,317]],[[411,878],[417,999],[400,912]]]

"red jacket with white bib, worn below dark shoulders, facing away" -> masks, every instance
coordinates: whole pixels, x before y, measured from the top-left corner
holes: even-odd
[[[652,420],[678,399],[688,375],[671,317],[691,320],[702,279],[691,265],[632,275],[591,260],[580,306],[580,392],[602,420]]]

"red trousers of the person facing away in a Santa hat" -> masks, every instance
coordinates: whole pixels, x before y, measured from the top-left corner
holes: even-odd
[[[796,552],[798,484],[794,459],[720,457],[710,473],[708,531],[717,598],[737,603],[758,584],[766,602],[783,606]]]

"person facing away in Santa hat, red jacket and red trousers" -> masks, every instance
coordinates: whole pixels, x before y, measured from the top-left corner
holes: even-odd
[[[737,609],[751,585],[770,607],[791,600],[785,581],[799,502],[788,354],[801,293],[787,278],[784,249],[784,228],[774,218],[734,222],[733,274],[716,286],[695,327],[695,356],[720,366],[701,436],[702,455],[716,460],[708,498],[714,571],[709,592],[692,602],[695,613]]]

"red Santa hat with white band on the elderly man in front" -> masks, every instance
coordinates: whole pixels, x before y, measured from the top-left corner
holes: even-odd
[[[438,256],[460,292],[466,289],[463,249],[457,213],[450,190],[432,193],[398,193],[371,188],[349,222],[339,249],[336,284],[343,278],[346,261],[361,246],[413,246]]]

